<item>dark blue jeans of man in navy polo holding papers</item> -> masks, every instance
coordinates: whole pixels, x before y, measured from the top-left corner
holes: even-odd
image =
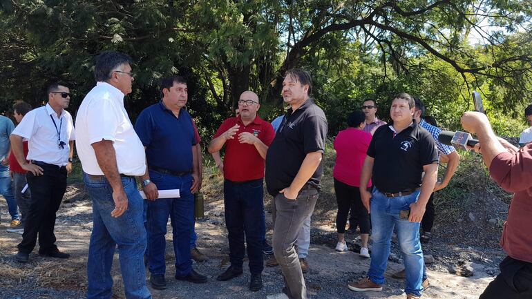
[[[167,223],[172,225],[175,276],[192,271],[190,236],[194,225],[194,196],[190,192],[192,175],[181,177],[149,171],[150,179],[159,190],[179,189],[179,198],[158,198],[148,201],[149,270],[152,275],[166,273],[164,253],[167,249]]]

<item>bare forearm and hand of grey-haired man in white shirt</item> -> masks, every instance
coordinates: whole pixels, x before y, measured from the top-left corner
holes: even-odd
[[[128,198],[122,186],[122,179],[118,172],[116,164],[116,153],[113,147],[113,142],[110,140],[102,140],[91,144],[94,148],[96,161],[99,168],[102,169],[107,178],[111,188],[113,189],[113,200],[115,202],[115,209],[111,212],[111,216],[120,217],[128,206]]]

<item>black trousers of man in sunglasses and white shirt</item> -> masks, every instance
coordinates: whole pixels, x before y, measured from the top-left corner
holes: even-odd
[[[57,250],[55,246],[55,213],[66,191],[66,168],[52,164],[39,164],[43,174],[35,176],[28,172],[26,180],[31,191],[30,210],[19,251],[30,253],[39,235],[39,253]]]

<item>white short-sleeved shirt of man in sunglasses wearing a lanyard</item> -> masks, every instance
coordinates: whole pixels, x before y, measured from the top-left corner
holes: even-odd
[[[74,124],[68,111],[62,110],[61,117],[50,104],[26,113],[12,134],[28,140],[27,160],[41,161],[57,166],[68,164],[70,140],[75,140]],[[64,145],[59,146],[59,142]]]

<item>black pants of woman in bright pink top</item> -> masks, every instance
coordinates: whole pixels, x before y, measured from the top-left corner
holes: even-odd
[[[370,215],[365,209],[360,197],[359,187],[344,184],[334,179],[334,192],[338,203],[338,213],[336,214],[336,229],[338,233],[345,233],[345,224],[348,221],[349,210],[354,217],[350,226],[360,226],[360,233],[370,233]]]

